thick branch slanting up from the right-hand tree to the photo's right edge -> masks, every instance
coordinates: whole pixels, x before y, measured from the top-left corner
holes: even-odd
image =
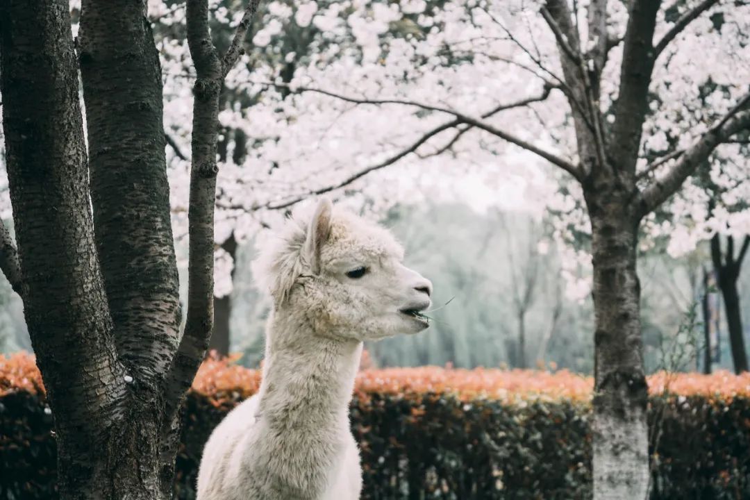
[[[672,168],[660,179],[654,181],[640,195],[641,216],[649,214],[672,196],[686,178],[695,172],[700,163],[706,161],[713,150],[734,133],[750,128],[750,110],[740,111],[750,101],[750,92],[739,100],[714,127],[703,134],[694,145],[688,148]]]

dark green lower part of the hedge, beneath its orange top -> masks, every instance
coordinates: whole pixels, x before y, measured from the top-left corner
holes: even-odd
[[[178,499],[194,499],[202,445],[231,406],[191,393],[178,456]],[[48,410],[47,410],[48,412]],[[55,499],[52,418],[26,392],[0,398],[0,500]],[[750,498],[750,404],[653,398],[652,499]],[[588,499],[590,410],[584,403],[462,403],[453,397],[355,399],[363,499]],[[658,424],[658,425],[655,425]]]

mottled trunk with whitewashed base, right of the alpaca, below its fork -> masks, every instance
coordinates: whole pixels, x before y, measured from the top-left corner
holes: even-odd
[[[584,190],[594,274],[594,498],[645,499],[648,394],[636,273],[638,217],[632,196],[607,187]]]

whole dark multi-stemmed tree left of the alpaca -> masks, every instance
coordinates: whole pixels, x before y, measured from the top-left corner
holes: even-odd
[[[207,2],[187,1],[196,78],[184,332],[161,66],[145,4],[83,0],[76,46],[67,1],[0,5],[17,239],[0,229],[0,268],[23,299],[55,419],[62,499],[172,496],[178,409],[211,334],[220,89],[258,3],[239,11],[220,53]]]

